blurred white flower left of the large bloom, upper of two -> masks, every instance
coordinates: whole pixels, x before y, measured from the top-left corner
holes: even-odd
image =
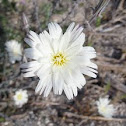
[[[20,61],[22,58],[22,47],[21,44],[16,40],[11,40],[5,43],[6,50],[9,53],[9,58],[11,63],[15,61]]]

